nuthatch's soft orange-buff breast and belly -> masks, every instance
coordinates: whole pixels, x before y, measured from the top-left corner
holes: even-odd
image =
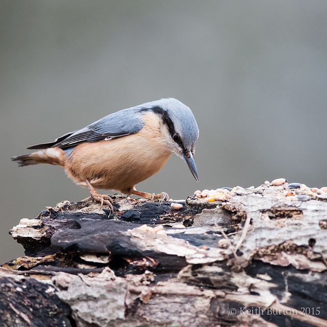
[[[172,153],[158,116],[146,112],[144,122],[138,133],[78,145],[66,160],[67,174],[81,185],[87,178],[95,188],[129,194],[135,184],[159,171]]]

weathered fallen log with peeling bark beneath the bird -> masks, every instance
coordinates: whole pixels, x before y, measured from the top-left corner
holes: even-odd
[[[27,256],[0,268],[2,325],[327,326],[322,193],[47,207],[10,231]]]

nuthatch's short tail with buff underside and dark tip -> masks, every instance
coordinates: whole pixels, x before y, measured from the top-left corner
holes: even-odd
[[[18,162],[19,167],[37,164],[51,164],[64,167],[65,159],[64,151],[59,148],[42,149],[31,154],[11,158],[11,160]]]

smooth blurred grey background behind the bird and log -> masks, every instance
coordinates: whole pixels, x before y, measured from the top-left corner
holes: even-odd
[[[193,110],[200,182],[171,157],[138,190],[327,186],[325,0],[2,0],[0,29],[0,263],[24,254],[8,235],[20,218],[89,196],[10,157],[160,98]]]

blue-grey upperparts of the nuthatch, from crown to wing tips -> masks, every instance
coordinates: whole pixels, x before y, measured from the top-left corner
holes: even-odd
[[[57,138],[54,142],[37,144],[28,149],[58,147],[68,150],[85,142],[98,142],[134,134],[144,126],[143,111],[153,111],[159,114],[164,123],[167,124],[172,136],[174,133],[178,133],[186,149],[195,148],[199,130],[191,109],[180,101],[169,98],[111,113],[80,130]]]

